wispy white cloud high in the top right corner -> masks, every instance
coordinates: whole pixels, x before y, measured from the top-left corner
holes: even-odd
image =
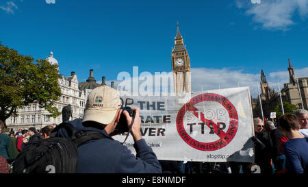
[[[290,29],[294,25],[292,17],[296,12],[305,19],[308,14],[308,0],[261,0],[261,3],[247,3],[236,0],[238,8],[246,8],[246,15],[261,23],[266,29]]]

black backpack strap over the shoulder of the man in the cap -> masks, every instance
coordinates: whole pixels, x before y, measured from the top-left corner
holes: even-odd
[[[71,140],[77,145],[77,147],[89,142],[90,140],[99,140],[101,138],[109,138],[113,140],[110,136],[97,131],[81,131],[72,135]]]

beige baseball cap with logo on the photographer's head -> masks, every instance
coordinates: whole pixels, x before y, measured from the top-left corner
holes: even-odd
[[[82,122],[95,121],[107,125],[114,120],[120,107],[118,91],[109,86],[99,86],[88,95]]]

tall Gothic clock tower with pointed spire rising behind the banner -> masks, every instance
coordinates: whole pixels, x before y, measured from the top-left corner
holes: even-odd
[[[192,92],[190,57],[179,32],[179,23],[177,23],[177,36],[175,36],[175,47],[172,49],[171,62],[175,92]]]

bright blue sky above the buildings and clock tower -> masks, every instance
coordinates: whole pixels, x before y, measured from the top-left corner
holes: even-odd
[[[133,66],[172,71],[179,21],[195,90],[239,85],[253,94],[261,68],[272,84],[288,81],[287,58],[308,76],[308,0],[255,2],[0,0],[0,41],[36,59],[53,51],[60,73],[75,71],[79,82],[91,68],[97,81],[116,80]]]

